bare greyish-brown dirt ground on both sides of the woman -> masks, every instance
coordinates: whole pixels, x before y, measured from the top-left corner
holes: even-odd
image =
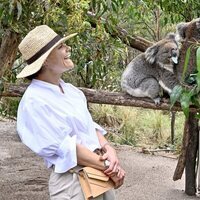
[[[184,177],[172,180],[177,160],[116,146],[126,170],[117,200],[198,199],[184,193]],[[43,160],[27,149],[16,134],[16,122],[0,120],[0,200],[47,200],[48,176]]]

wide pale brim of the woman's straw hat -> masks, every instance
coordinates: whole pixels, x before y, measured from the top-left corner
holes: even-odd
[[[17,78],[25,78],[27,76],[30,76],[32,74],[35,74],[38,72],[41,68],[51,51],[58,46],[60,43],[76,36],[77,33],[70,34],[66,37],[63,37],[61,40],[59,40],[56,44],[54,44],[46,53],[44,53],[40,58],[38,58],[35,62],[31,63],[30,65],[26,65],[24,69],[17,75]]]

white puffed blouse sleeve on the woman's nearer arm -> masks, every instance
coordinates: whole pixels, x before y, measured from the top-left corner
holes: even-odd
[[[17,131],[22,142],[63,173],[77,165],[72,128],[45,103],[29,101],[18,108]]]

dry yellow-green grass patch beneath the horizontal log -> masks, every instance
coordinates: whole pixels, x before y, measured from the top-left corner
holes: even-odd
[[[176,113],[175,143],[171,144],[171,113],[134,107],[90,104],[93,118],[104,126],[116,143],[179,150],[184,115]]]

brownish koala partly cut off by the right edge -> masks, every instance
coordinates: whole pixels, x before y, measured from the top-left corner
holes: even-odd
[[[181,22],[176,26],[176,38],[181,43],[180,56],[178,65],[174,69],[174,73],[180,82],[188,83],[190,75],[196,71],[196,48],[191,48],[188,68],[184,71],[184,63],[187,49],[200,41],[200,18],[194,19],[191,22]]]

